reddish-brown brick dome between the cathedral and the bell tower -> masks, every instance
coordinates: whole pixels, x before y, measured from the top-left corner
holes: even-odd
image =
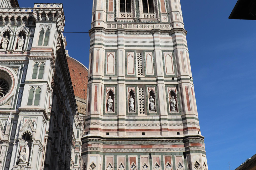
[[[88,68],[86,68],[82,63],[68,55],[67,61],[74,94],[76,97],[86,100]]]

